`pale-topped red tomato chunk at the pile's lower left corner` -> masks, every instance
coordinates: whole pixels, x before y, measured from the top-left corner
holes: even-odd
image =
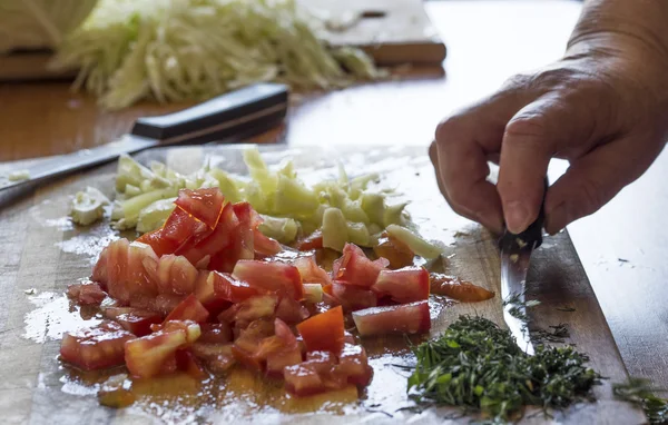
[[[66,333],[60,345],[60,357],[84,370],[122,365],[124,346],[134,338],[135,335],[119,324],[104,320],[91,328]]]

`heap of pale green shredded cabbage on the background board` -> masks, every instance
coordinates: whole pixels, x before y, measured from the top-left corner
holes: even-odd
[[[327,89],[385,75],[358,49],[327,47],[324,26],[295,0],[101,0],[51,67],[79,68],[75,87],[108,109],[258,81]]]

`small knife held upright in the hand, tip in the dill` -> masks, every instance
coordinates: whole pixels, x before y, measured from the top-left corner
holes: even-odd
[[[548,191],[548,178],[544,179],[543,199],[536,221],[519,235],[504,229],[499,245],[501,248],[501,297],[503,299],[503,319],[518,346],[528,355],[533,355],[533,345],[527,324],[524,298],[527,271],[531,254],[542,244],[544,221],[544,197]]]

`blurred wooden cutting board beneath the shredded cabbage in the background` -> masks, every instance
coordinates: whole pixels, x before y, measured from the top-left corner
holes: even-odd
[[[380,66],[440,65],[445,45],[426,14],[422,0],[298,0],[331,22],[346,21],[345,31],[328,26],[323,38],[333,46],[363,48]],[[346,19],[346,17],[358,19]],[[328,18],[327,18],[328,17]],[[75,71],[51,71],[51,52],[0,55],[0,81],[70,79]]]

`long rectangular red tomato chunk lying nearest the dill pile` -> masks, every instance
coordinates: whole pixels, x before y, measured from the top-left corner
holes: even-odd
[[[419,334],[431,328],[428,302],[357,310],[353,320],[362,336]]]

